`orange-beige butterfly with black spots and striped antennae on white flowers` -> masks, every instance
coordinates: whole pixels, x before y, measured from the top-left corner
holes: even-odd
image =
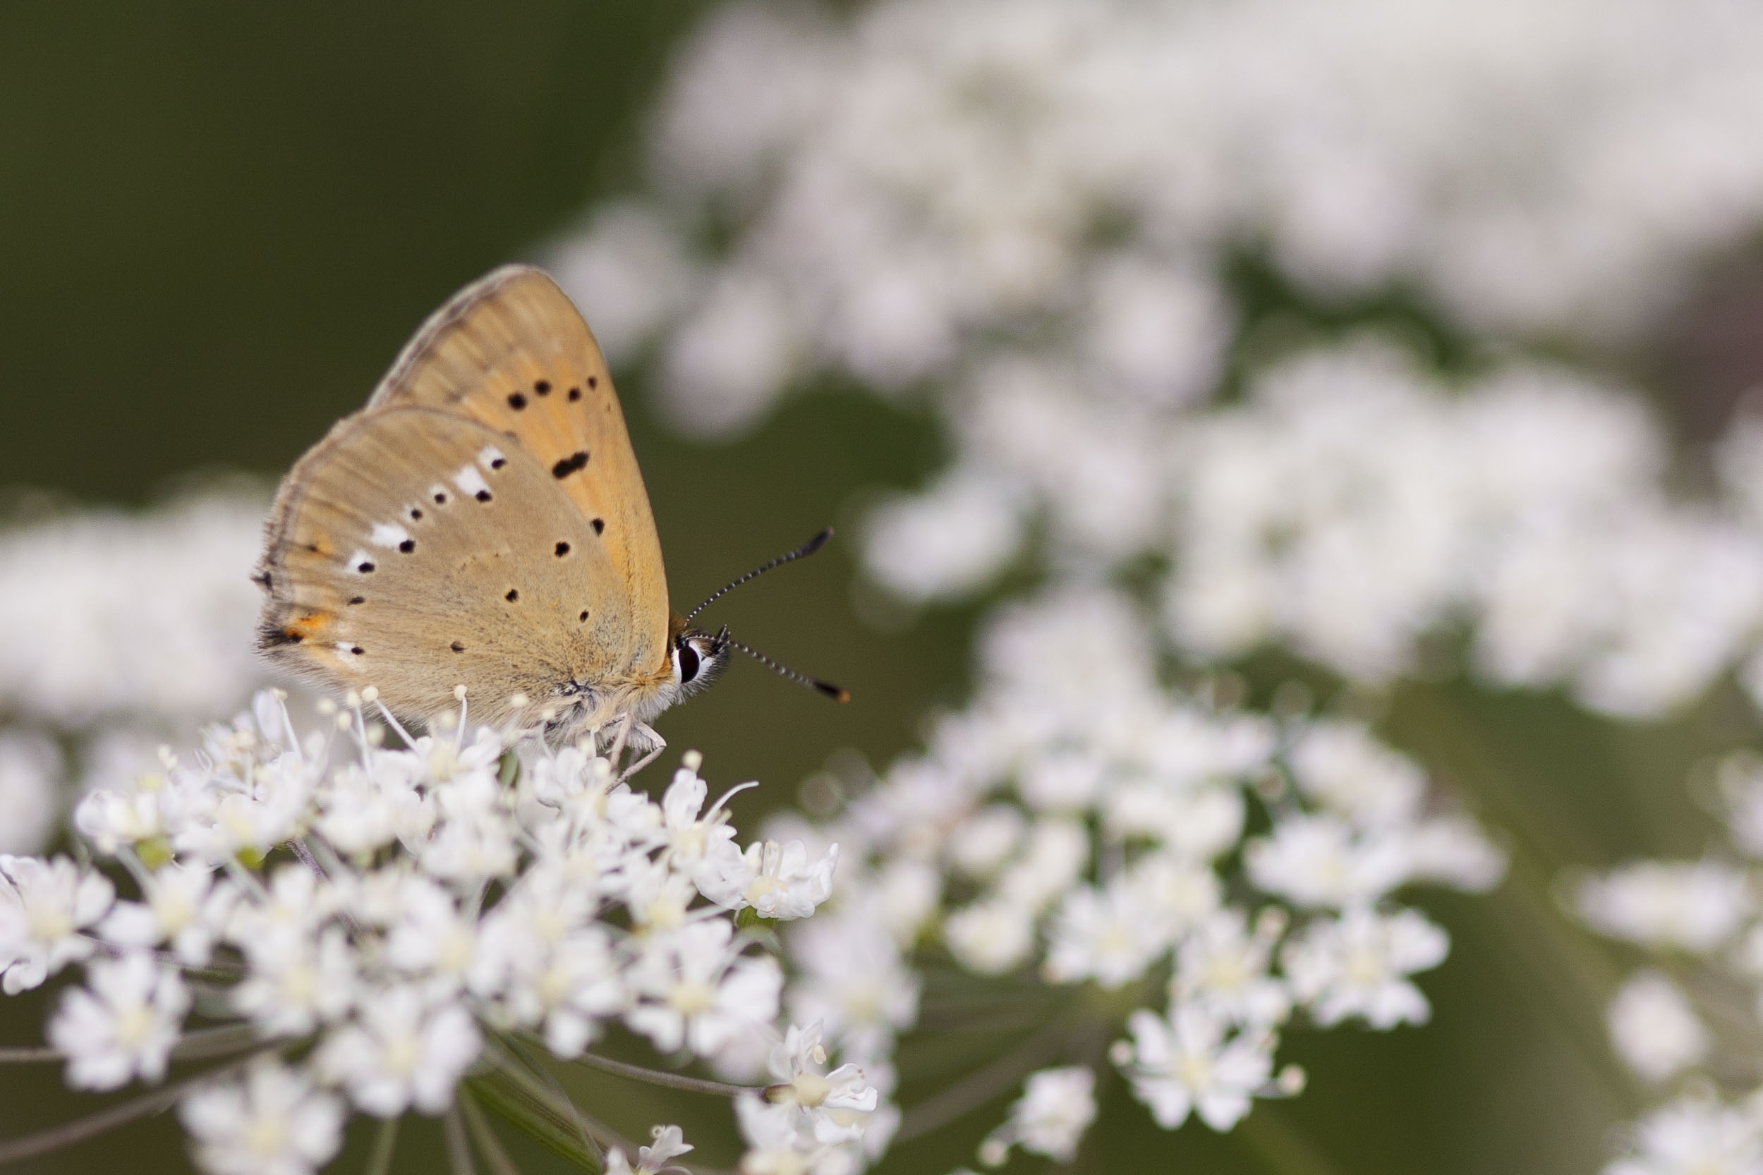
[[[649,722],[709,685],[730,648],[846,698],[670,610],[605,356],[531,266],[455,294],[367,407],[294,463],[256,580],[272,662],[337,691],[372,685],[416,721],[467,698],[492,726],[617,729],[658,754]]]

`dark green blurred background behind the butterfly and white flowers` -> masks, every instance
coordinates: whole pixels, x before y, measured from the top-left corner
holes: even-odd
[[[277,477],[453,289],[538,257],[635,180],[668,48],[703,7],[0,5],[0,483],[141,504],[203,470]],[[1712,381],[1682,402],[1692,435],[1714,432],[1703,418],[1724,416],[1737,381],[1714,370],[1710,345],[1636,361],[1666,382]],[[790,402],[739,444],[691,446],[645,409],[640,375],[622,393],[677,604],[850,523],[878,488],[917,484],[940,460],[927,416],[836,389]],[[675,747],[705,752],[712,782],[765,780],[744,796],[744,828],[841,749],[885,765],[929,708],[963,696],[975,613],[876,631],[852,608],[852,546],[836,544],[718,606],[748,641],[846,684],[850,706],[737,664],[663,722]],[[1250,678],[1264,699],[1292,671],[1250,666]],[[1751,719],[1721,696],[1671,726],[1617,728],[1548,698],[1433,684],[1405,687],[1386,729],[1518,851],[1495,897],[1421,902],[1453,934],[1449,962],[1423,976],[1433,1024],[1292,1032],[1282,1057],[1306,1066],[1312,1089],[1257,1105],[1229,1136],[1199,1122],[1162,1133],[1116,1080],[1077,1170],[1601,1166],[1641,1090],[1604,1045],[1611,948],[1566,928],[1550,886],[1573,863],[1698,853],[1707,828],[1684,780],[1710,750],[1752,738]],[[7,1001],[5,1041],[35,1043],[42,1011],[41,992]],[[677,1119],[707,1163],[733,1157],[725,1106],[688,1115],[599,1080],[584,1090],[631,1133]],[[0,1133],[92,1105],[49,1068],[0,1071]],[[971,1163],[1001,1105],[901,1147],[887,1170]],[[398,1170],[439,1170],[427,1124],[409,1136]],[[356,1131],[337,1170],[361,1170],[363,1143]],[[185,1168],[159,1119],[18,1170]]]

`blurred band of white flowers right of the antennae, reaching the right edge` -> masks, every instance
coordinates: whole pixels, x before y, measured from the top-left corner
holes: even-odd
[[[1483,680],[1655,715],[1735,662],[1763,689],[1754,432],[1728,440],[1737,502],[1691,507],[1640,403],[1562,368],[1447,388],[1361,336],[1172,416],[1000,363],[961,407],[957,469],[871,518],[866,565],[908,599],[971,594],[1044,520],[1056,569],[1169,565],[1162,627],[1195,661],[1282,645],[1382,684],[1462,624]]]

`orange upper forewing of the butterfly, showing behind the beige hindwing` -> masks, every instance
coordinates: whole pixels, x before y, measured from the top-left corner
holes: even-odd
[[[668,661],[661,541],[599,344],[543,271],[504,266],[455,294],[405,345],[368,410],[467,416],[520,442],[585,520],[619,574],[631,666]]]

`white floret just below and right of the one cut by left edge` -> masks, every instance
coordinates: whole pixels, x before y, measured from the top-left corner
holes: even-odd
[[[69,988],[49,1020],[49,1043],[67,1057],[74,1089],[116,1089],[139,1076],[157,1082],[183,1031],[190,992],[148,955],[97,960],[86,985]]]

